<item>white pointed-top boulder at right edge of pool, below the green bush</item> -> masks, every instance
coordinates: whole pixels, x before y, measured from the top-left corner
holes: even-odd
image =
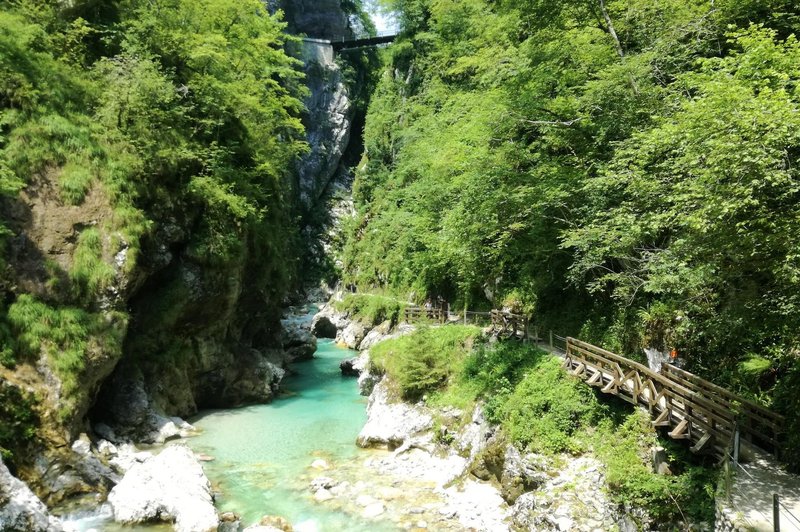
[[[386,377],[369,396],[367,423],[356,443],[360,447],[387,447],[393,450],[433,427],[433,416],[427,408],[403,402],[392,402]]]

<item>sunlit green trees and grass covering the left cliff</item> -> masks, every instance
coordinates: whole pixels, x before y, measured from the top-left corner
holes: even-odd
[[[304,88],[283,29],[259,0],[0,8],[0,362],[13,381],[13,368],[46,355],[62,422],[82,417],[97,391],[87,367],[107,375],[119,360],[129,289],[158,267],[156,252],[180,246],[209,271],[244,270],[265,305],[291,285]],[[9,214],[28,208],[21,192],[88,220],[63,248],[43,247],[57,239],[36,240]],[[164,244],[165,230],[183,236]],[[166,307],[149,308],[148,322],[174,314]],[[32,436],[6,432],[4,453]]]

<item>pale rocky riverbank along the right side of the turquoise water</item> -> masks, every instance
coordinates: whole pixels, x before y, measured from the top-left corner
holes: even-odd
[[[388,377],[371,371],[369,349],[413,329],[372,326],[338,312],[335,302],[314,317],[312,331],[361,349],[342,369],[358,375],[369,397],[357,443],[371,450],[360,462],[310,468],[309,491],[319,504],[405,529],[638,529],[609,499],[604,466],[594,457],[524,453],[486,421],[480,405],[466,413],[400,400]]]

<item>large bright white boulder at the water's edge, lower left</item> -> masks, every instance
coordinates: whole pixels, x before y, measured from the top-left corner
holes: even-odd
[[[174,522],[178,532],[216,531],[211,483],[192,451],[173,445],[134,465],[111,490],[114,519],[124,524]]]

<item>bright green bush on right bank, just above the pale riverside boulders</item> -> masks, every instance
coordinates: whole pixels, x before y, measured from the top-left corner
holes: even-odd
[[[423,327],[370,350],[370,361],[395,382],[404,399],[415,401],[448,383],[480,334],[477,327]]]

